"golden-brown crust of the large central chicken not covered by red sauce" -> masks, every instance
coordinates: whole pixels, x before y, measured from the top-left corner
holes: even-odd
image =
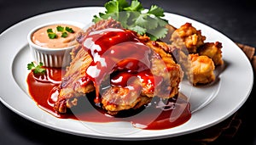
[[[105,26],[102,27],[102,25]],[[79,34],[77,40],[80,45],[73,49],[71,53],[72,62],[70,66],[67,67],[67,73],[64,75],[61,82],[58,100],[54,106],[57,112],[66,113],[67,109],[77,104],[77,98],[84,97],[86,93],[96,90],[95,82],[91,81],[85,72],[94,60],[82,45],[84,45],[84,39],[91,31],[106,28],[122,29],[119,22],[115,22],[114,20],[102,20],[96,23],[96,25],[92,25],[84,33]],[[132,92],[132,90],[129,90],[130,86],[108,87],[104,92],[100,92],[101,98],[99,102],[101,103],[102,109],[106,109],[109,114],[118,114],[120,110],[124,109],[138,109],[144,104],[149,103],[153,97],[172,98],[178,93],[178,86],[180,81],[182,81],[183,71],[180,65],[176,64],[172,59],[172,55],[163,50],[163,47],[168,47],[168,45],[150,41],[148,36],[138,35],[136,39],[142,42],[142,44],[144,43],[144,45],[148,46],[152,49],[152,52],[154,52],[149,60],[152,62],[150,69],[151,73],[156,76],[156,78],[160,78],[160,81],[156,82],[161,83],[154,84],[156,85],[154,92],[150,90],[150,84],[144,81],[134,82],[138,87],[141,87],[141,91],[139,92]],[[115,73],[115,70],[111,71],[111,73]],[[140,80],[143,79],[141,78]]]

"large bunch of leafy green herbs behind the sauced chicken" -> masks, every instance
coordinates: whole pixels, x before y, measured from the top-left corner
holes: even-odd
[[[105,13],[94,15],[93,22],[112,18],[118,20],[126,29],[148,35],[151,40],[164,38],[167,34],[165,26],[168,21],[162,18],[165,16],[163,8],[152,5],[145,10],[138,0],[131,0],[131,4],[126,0],[111,0],[104,6]]]

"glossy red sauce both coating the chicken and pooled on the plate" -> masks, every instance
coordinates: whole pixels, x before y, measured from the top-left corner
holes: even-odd
[[[65,70],[45,68],[46,73],[44,75],[34,75],[32,72],[27,75],[28,91],[38,107],[61,119],[68,118],[102,123],[128,121],[133,126],[144,130],[168,129],[182,125],[190,119],[189,102],[178,96],[166,100],[154,98],[147,106],[140,109],[125,110],[120,113],[122,115],[116,116],[109,115],[98,107],[96,103],[99,103],[101,98],[97,87],[100,87],[104,76],[111,75],[113,70],[119,71],[111,78],[111,86],[132,86],[132,84],[127,84],[127,81],[129,78],[135,77],[140,78],[143,83],[147,83],[150,86],[148,90],[154,92],[154,84],[160,84],[161,79],[155,78],[150,72],[148,57],[152,53],[151,49],[142,45],[132,31],[104,31],[103,33],[94,33],[94,35],[87,38],[101,47],[99,51],[97,47],[86,47],[84,44],[84,49],[90,53],[92,59],[94,59],[94,55],[101,58],[100,60],[94,59],[89,66],[92,69],[96,68],[99,75],[86,74],[84,76],[93,81],[96,92],[88,93],[86,97],[79,98],[78,105],[69,110],[67,114],[59,114],[53,106],[57,100],[57,88],[61,84],[61,78],[65,74]],[[119,46],[121,42],[123,44]],[[124,44],[124,42],[129,43]],[[124,58],[124,52],[129,54],[130,59]],[[102,59],[105,60],[104,63],[102,63]],[[113,59],[127,61],[120,61],[116,64]],[[88,81],[88,79],[84,79],[84,81]]]

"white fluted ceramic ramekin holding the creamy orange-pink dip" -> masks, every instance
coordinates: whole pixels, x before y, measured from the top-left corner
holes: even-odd
[[[78,22],[73,21],[55,21],[51,23],[46,23],[43,25],[38,25],[37,27],[33,28],[32,31],[30,31],[27,35],[27,42],[29,44],[32,57],[38,64],[42,62],[44,66],[46,67],[55,67],[55,68],[61,68],[66,67],[70,61],[71,56],[70,52],[76,45],[73,45],[71,47],[61,47],[61,48],[52,48],[52,47],[41,47],[37,44],[32,42],[32,34],[37,31],[38,29],[48,26],[48,25],[74,25],[81,30],[83,30],[84,25],[80,24]]]

